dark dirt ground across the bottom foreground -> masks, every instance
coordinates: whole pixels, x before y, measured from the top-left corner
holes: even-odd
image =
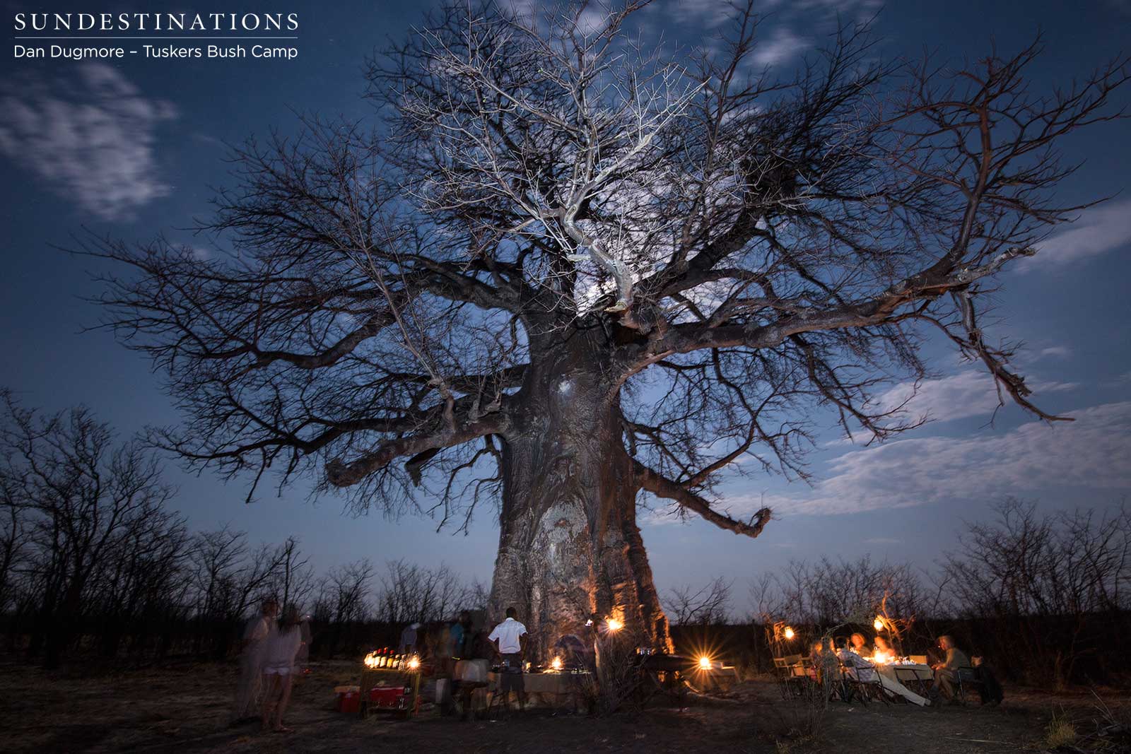
[[[639,714],[590,718],[530,710],[501,721],[460,721],[426,710],[411,721],[362,720],[333,710],[334,686],[357,683],[356,665],[323,662],[295,690],[292,734],[228,727],[234,665],[191,665],[118,675],[49,675],[0,661],[0,751],[6,752],[1013,752],[1041,751],[1053,714],[1095,728],[1090,692],[1046,694],[1007,687],[1005,703],[921,710],[835,702],[815,738],[804,714],[769,681],[735,686],[729,699],[654,705]],[[1126,692],[1102,692],[1117,712]]]

